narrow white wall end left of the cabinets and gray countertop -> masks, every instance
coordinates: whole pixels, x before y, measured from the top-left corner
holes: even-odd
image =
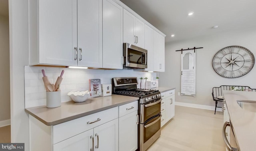
[[[9,0],[11,141],[29,151],[28,115],[24,111],[24,65],[28,64],[28,0]]]

